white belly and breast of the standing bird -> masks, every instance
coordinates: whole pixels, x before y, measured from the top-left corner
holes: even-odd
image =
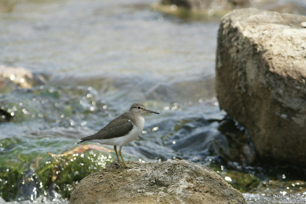
[[[105,144],[105,145],[116,145],[116,146],[123,146],[126,145],[129,142],[132,142],[136,137],[140,135],[142,130],[144,129],[144,118],[141,117],[137,124],[133,124],[132,130],[124,136],[121,137],[114,137],[110,139],[95,139],[91,140],[91,142],[97,142],[100,144]]]

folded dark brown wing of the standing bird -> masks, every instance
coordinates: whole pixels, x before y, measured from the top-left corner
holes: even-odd
[[[128,118],[117,118],[117,120],[111,121],[99,132],[81,138],[81,140],[93,140],[93,139],[110,139],[114,137],[121,137],[128,134],[133,129],[133,124]]]

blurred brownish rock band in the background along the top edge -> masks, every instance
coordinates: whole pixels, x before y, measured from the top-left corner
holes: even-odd
[[[306,7],[301,2],[271,0],[158,0],[151,8],[170,15],[189,19],[221,18],[233,9],[253,7],[281,13],[305,15]]]

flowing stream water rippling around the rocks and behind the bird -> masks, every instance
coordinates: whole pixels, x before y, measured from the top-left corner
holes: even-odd
[[[2,2],[0,64],[25,67],[48,82],[1,90],[1,197],[69,202],[78,181],[115,156],[111,146],[74,143],[143,102],[161,114],[144,116],[142,134],[122,148],[125,159],[188,159],[213,167],[248,192],[249,202],[272,199],[269,179],[285,181],[286,171],[269,177],[252,165],[252,143],[215,97],[219,21],[165,16],[151,3]],[[267,187],[255,191],[265,180]],[[305,189],[303,181],[294,181],[296,189],[288,182],[280,188]]]

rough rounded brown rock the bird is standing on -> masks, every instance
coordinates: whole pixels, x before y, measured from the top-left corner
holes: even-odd
[[[80,181],[71,203],[246,203],[213,169],[187,160],[113,162]]]

